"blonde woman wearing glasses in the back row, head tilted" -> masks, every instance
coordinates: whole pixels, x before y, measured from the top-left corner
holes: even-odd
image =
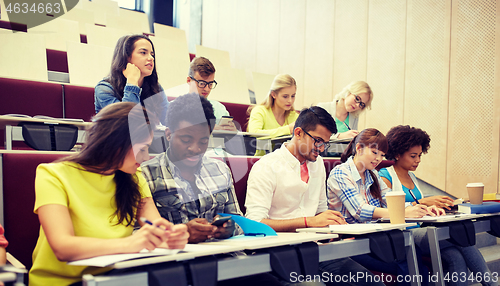
[[[358,134],[358,118],[361,112],[371,108],[373,92],[364,81],[354,81],[335,95],[332,102],[320,102],[335,119],[337,133],[333,139],[353,138]]]

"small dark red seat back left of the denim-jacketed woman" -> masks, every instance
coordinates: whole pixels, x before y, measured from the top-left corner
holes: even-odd
[[[85,86],[64,86],[66,118],[79,118],[86,122],[95,115],[94,88]]]

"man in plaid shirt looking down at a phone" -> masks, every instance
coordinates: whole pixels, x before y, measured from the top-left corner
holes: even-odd
[[[242,215],[229,167],[203,156],[214,122],[212,106],[205,98],[197,94],[178,97],[167,112],[169,148],[142,165],[161,216],[186,224],[190,243],[228,238],[239,231],[233,220],[218,227],[211,224],[217,213]]]

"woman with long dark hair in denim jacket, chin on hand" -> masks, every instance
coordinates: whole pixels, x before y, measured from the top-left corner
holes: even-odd
[[[163,125],[168,99],[158,83],[153,42],[144,35],[121,37],[116,43],[109,75],[94,90],[95,112],[115,102],[143,102]]]

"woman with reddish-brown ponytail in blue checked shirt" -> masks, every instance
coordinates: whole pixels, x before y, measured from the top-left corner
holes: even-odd
[[[387,149],[384,134],[377,129],[365,129],[349,143],[341,156],[342,164],[330,172],[327,180],[328,208],[339,211],[348,223],[365,223],[389,217],[385,195],[390,189],[375,170]],[[424,205],[408,206],[405,209],[405,217],[436,214],[440,213],[435,207],[427,208]],[[369,255],[355,256],[352,259],[370,270],[393,275],[409,273],[406,261],[385,263]],[[427,268],[420,261],[419,269],[424,275],[423,282],[427,282]]]

